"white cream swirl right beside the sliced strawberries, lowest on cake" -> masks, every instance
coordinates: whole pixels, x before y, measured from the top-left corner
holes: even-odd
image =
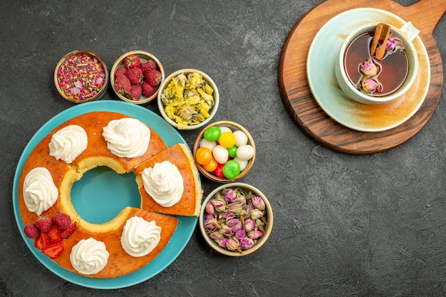
[[[108,253],[105,244],[93,238],[82,239],[70,253],[71,265],[80,273],[89,275],[103,270],[108,263]]]

